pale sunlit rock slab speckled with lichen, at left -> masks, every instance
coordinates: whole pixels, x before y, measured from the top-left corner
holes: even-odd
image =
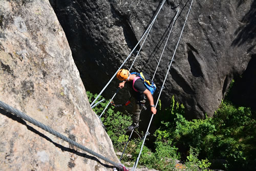
[[[0,100],[119,162],[91,110],[48,1],[0,2]],[[109,163],[0,111],[0,170],[112,170]]]

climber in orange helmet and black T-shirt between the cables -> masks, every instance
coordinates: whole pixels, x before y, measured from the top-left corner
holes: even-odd
[[[142,81],[141,78],[137,78],[136,74],[130,74],[128,70],[126,69],[120,69],[117,74],[116,77],[118,78],[118,80],[123,81],[122,83],[119,83],[119,88],[122,89],[124,87],[124,84],[126,82],[129,82],[129,86],[130,86],[130,92],[132,94],[132,96],[136,99],[136,106],[133,109],[133,124],[131,126],[128,127],[128,130],[133,130],[134,128],[139,127],[139,119],[140,119],[140,112],[144,107],[145,104],[145,95],[148,99],[148,101],[150,102],[150,106],[151,106],[151,111],[152,113],[155,115],[157,112],[157,109],[155,107],[154,104],[154,99],[153,96],[150,92],[150,90],[148,90],[146,88],[146,86],[144,85],[144,82]],[[135,80],[135,82],[134,82]],[[134,83],[133,83],[134,82]],[[133,87],[134,86],[134,87]],[[137,91],[135,91],[135,89]]]

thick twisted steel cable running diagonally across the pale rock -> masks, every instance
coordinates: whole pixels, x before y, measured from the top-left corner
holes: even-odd
[[[68,137],[66,137],[66,136],[63,136],[62,134],[60,134],[59,132],[53,130],[52,128],[48,127],[47,125],[42,124],[42,123],[36,121],[35,119],[29,117],[29,116],[26,115],[25,113],[23,113],[23,112],[21,112],[21,111],[15,109],[15,108],[13,108],[12,106],[9,106],[8,104],[6,104],[6,103],[4,103],[4,102],[2,102],[2,101],[0,101],[0,108],[4,109],[4,110],[6,110],[6,111],[9,111],[10,113],[15,114],[15,115],[18,116],[19,118],[22,118],[22,119],[24,119],[24,120],[26,120],[26,121],[28,121],[28,122],[34,124],[35,126],[38,126],[39,128],[42,128],[42,129],[44,129],[44,130],[50,132],[52,135],[54,135],[54,136],[56,136],[56,137],[58,137],[58,138],[60,138],[60,139],[62,139],[62,140],[64,140],[64,141],[66,141],[66,142],[68,142],[68,143],[70,143],[70,144],[72,144],[72,145],[74,145],[74,146],[76,146],[76,147],[78,147],[78,148],[80,148],[80,149],[82,149],[82,150],[84,150],[84,151],[90,153],[91,155],[94,155],[94,156],[96,156],[96,157],[98,157],[98,158],[100,158],[100,159],[102,159],[102,160],[104,160],[104,161],[106,161],[106,162],[109,162],[109,163],[113,164],[114,166],[118,167],[118,168],[121,169],[121,170],[128,170],[128,169],[125,168],[125,166],[122,165],[121,163],[116,163],[116,162],[114,162],[114,161],[112,161],[112,160],[110,160],[110,159],[108,159],[108,158],[105,158],[105,157],[103,157],[103,156],[101,156],[101,155],[95,153],[95,152],[92,151],[91,149],[89,149],[89,148],[87,148],[87,147],[85,147],[85,146],[83,146],[83,145],[81,145],[81,144],[75,142],[74,140],[71,140],[70,138],[68,138]]]

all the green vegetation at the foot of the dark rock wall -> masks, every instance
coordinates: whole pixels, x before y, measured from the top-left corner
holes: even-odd
[[[91,101],[96,95],[88,92],[88,97]],[[222,161],[218,168],[255,170],[256,113],[252,114],[246,107],[222,102],[214,118],[188,121],[183,117],[182,104],[175,102],[174,97],[170,104],[163,109],[159,101],[158,117],[154,121],[160,125],[154,133],[155,149],[152,151],[144,145],[140,165],[158,170],[207,170],[216,165],[216,161]],[[94,111],[100,114],[105,105],[101,103]],[[126,128],[131,124],[131,117],[114,112],[110,107],[101,120],[115,150],[122,151],[128,139]],[[126,149],[132,157],[126,156],[122,162],[134,163],[141,144],[139,139],[132,140]],[[177,160],[183,163],[177,163]]]

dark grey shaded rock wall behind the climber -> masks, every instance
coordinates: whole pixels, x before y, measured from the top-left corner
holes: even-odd
[[[158,88],[173,56],[190,2],[166,1],[132,69],[154,74],[168,29],[179,10],[154,80]],[[119,68],[160,5],[160,1],[140,0],[50,0],[50,3],[66,32],[83,83],[93,92],[99,92]],[[212,116],[230,81],[241,75],[255,58],[254,18],[254,0],[194,1],[162,102],[169,102],[174,94],[186,106],[188,118],[204,118],[205,113]],[[130,68],[132,60],[124,68]],[[117,82],[106,92],[108,98],[112,97],[116,85]]]

